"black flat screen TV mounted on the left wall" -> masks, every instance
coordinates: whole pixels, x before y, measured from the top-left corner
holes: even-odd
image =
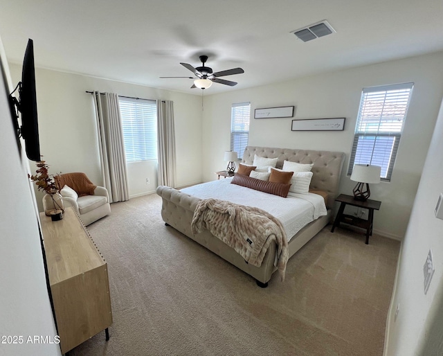
[[[28,39],[26,46],[23,68],[21,71],[21,82],[19,88],[19,100],[10,94],[10,103],[15,105],[21,113],[21,127],[15,115],[15,128],[17,135],[25,141],[26,156],[32,161],[41,161],[39,143],[39,125],[37,119],[37,95],[35,92],[35,67],[34,67],[34,44]],[[15,112],[15,109],[14,109]]]

